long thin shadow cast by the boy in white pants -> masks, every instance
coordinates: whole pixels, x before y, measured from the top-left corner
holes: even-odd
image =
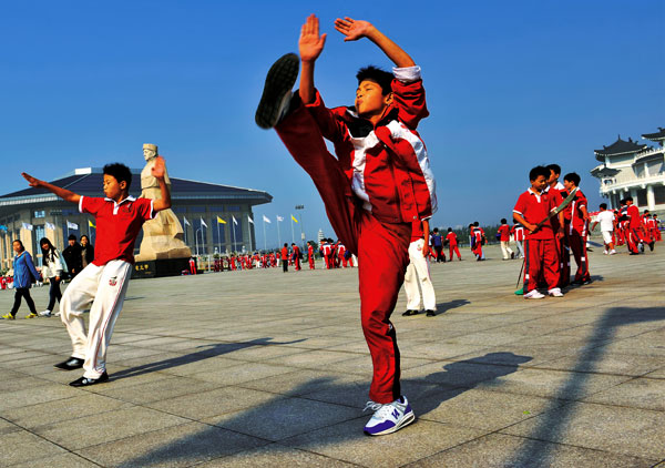
[[[223,354],[233,353],[236,350],[249,348],[252,346],[273,346],[273,345],[291,345],[294,343],[304,342],[306,338],[296,339],[294,342],[272,342],[273,338],[259,338],[250,342],[241,343],[219,343],[217,345],[200,346],[200,352],[186,354],[183,356],[156,360],[154,363],[144,364],[142,366],[131,367],[123,369],[117,373],[113,373],[111,380],[117,380],[121,378],[135,377],[142,374],[155,373],[158,370],[168,369],[172,367],[184,366],[185,364],[196,363],[197,360],[207,359],[208,357],[221,356]]]

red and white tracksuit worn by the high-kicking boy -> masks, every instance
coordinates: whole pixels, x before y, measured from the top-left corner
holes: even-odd
[[[311,104],[298,105],[275,126],[311,176],[338,238],[358,255],[362,332],[374,365],[369,397],[380,404],[401,395],[390,315],[409,263],[411,222],[430,217],[437,206],[433,174],[416,132],[429,114],[420,68],[395,69],[395,75],[392,103],[376,125],[351,109],[327,109],[317,92]]]

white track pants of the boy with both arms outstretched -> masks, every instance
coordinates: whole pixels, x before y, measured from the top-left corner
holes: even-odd
[[[60,318],[72,339],[72,356],[85,359],[83,376],[86,378],[99,378],[106,368],[106,349],[131,275],[132,265],[121,260],[104,266],[90,264],[72,279],[62,295]],[[86,334],[83,311],[91,303]]]

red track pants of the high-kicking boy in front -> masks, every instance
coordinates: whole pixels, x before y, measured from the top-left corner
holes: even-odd
[[[388,224],[359,206],[351,185],[324,141],[320,130],[300,105],[276,128],[296,162],[316,185],[338,238],[358,255],[360,316],[371,354],[374,376],[369,398],[387,404],[400,397],[399,348],[390,314],[409,264],[411,224]]]

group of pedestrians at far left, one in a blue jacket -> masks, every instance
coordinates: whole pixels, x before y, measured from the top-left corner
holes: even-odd
[[[23,243],[19,240],[13,241],[12,287],[14,289],[14,303],[11,311],[2,315],[2,318],[14,319],[22,299],[25,299],[25,304],[30,309],[30,314],[25,318],[59,316],[60,313],[53,313],[53,311],[55,302],[60,303],[62,298],[60,284],[65,278],[72,279],[94,258],[94,246],[90,243],[88,236],[82,235],[80,242],[75,235],[71,234],[68,240],[69,245],[60,252],[48,237],[42,237],[39,241],[42,266],[38,269]],[[49,305],[44,311],[37,312],[34,301],[30,296],[30,287],[32,284],[45,282],[49,283]]]

